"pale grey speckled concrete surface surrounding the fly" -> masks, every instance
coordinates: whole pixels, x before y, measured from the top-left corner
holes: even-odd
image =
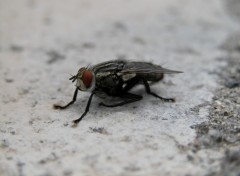
[[[0,1],[0,175],[239,175],[237,0]],[[71,100],[82,66],[125,58],[184,74],[108,109]]]

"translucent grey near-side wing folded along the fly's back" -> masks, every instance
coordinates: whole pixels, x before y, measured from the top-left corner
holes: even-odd
[[[174,74],[182,73],[181,71],[169,70],[159,65],[147,62],[128,62],[124,65],[120,74]]]

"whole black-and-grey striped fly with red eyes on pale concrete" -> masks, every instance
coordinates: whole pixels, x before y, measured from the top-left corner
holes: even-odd
[[[97,65],[82,67],[77,74],[69,80],[76,82],[76,89],[72,101],[65,106],[54,105],[55,109],[65,109],[72,105],[77,98],[78,91],[89,91],[86,109],[80,118],[73,121],[77,125],[88,113],[93,98],[96,95],[100,98],[119,97],[121,102],[106,104],[100,102],[100,106],[116,107],[141,100],[141,95],[129,91],[136,85],[143,84],[148,94],[163,101],[174,102],[173,98],[164,98],[150,89],[150,84],[163,79],[164,74],[182,73],[181,71],[169,70],[148,62],[132,62],[126,60],[113,60]]]

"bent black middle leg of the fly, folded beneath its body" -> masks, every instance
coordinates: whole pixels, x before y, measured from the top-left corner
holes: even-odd
[[[122,105],[125,105],[125,104],[128,104],[128,103],[133,103],[135,101],[139,101],[139,100],[142,99],[142,96],[131,94],[131,93],[125,93],[123,96],[121,96],[121,98],[124,98],[126,100],[124,100],[120,103],[112,104],[112,105],[105,104],[105,103],[101,102],[101,103],[99,103],[99,106],[105,106],[105,107],[109,107],[109,108],[122,106]]]

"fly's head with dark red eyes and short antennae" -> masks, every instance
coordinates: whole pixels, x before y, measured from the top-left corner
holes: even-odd
[[[92,91],[95,88],[95,75],[86,67],[80,68],[69,80],[76,81],[76,87],[81,91]]]

